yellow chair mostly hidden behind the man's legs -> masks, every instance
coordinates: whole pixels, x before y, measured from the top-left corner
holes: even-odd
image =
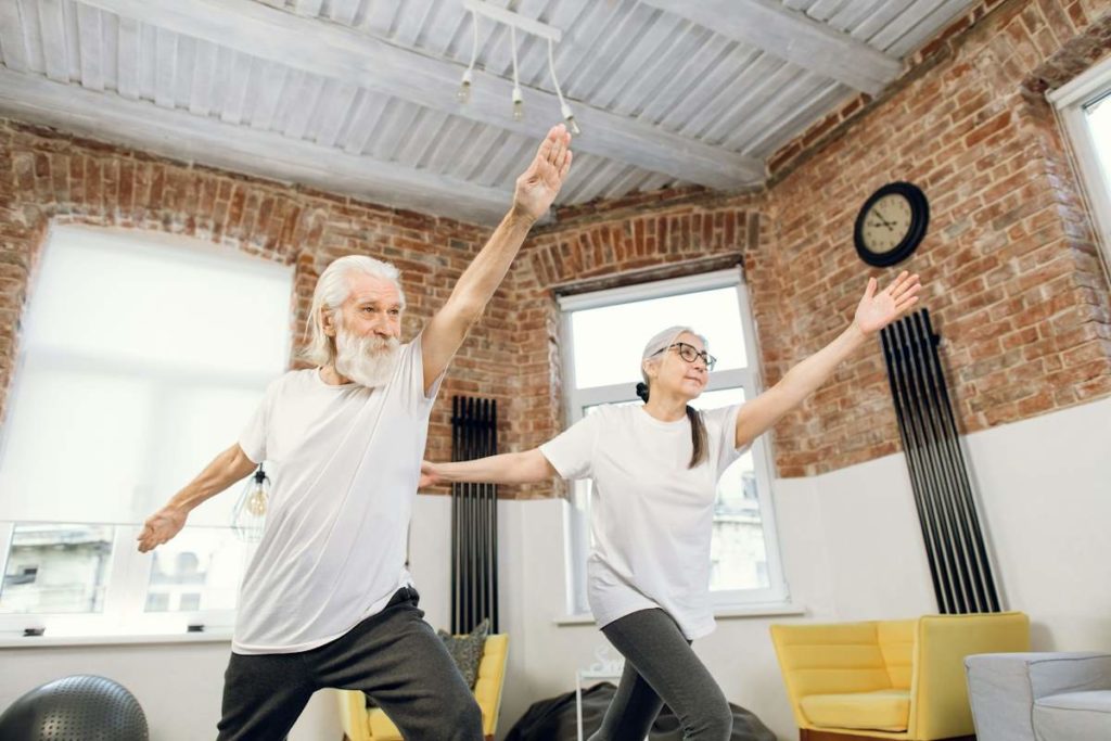
[[[482,709],[482,732],[487,741],[493,740],[501,712],[501,688],[506,680],[506,659],[509,652],[509,635],[498,633],[487,635],[482,644],[482,661],[479,677],[474,682],[474,699]],[[367,708],[367,697],[362,692],[340,690],[340,715],[343,732],[351,741],[401,741],[397,725],[386,717],[381,708]]]

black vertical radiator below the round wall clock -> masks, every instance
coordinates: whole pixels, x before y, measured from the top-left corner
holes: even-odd
[[[999,612],[938,356],[941,337],[922,309],[885,327],[880,339],[938,609],[943,614]]]

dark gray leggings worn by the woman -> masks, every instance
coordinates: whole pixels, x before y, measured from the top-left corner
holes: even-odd
[[[590,741],[643,741],[663,703],[682,724],[684,740],[728,741],[733,728],[729,702],[671,615],[641,610],[602,632],[625,658],[625,667]]]

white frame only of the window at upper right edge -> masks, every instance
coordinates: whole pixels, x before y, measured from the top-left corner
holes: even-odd
[[[1101,172],[1099,153],[1084,109],[1104,98],[1111,98],[1111,59],[1087,70],[1072,81],[1045,94],[1065,132],[1072,160],[1080,176],[1081,190],[1088,202],[1097,231],[1097,242],[1104,268],[1111,274],[1111,161]],[[1111,106],[1111,100],[1103,103]]]

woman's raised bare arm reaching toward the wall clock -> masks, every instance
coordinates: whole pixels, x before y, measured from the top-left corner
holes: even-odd
[[[920,289],[918,276],[905,270],[878,293],[875,279],[870,278],[849,328],[794,366],[779,383],[741,407],[737,414],[737,447],[751,443],[817,391],[869,337],[907,313],[918,302]]]

